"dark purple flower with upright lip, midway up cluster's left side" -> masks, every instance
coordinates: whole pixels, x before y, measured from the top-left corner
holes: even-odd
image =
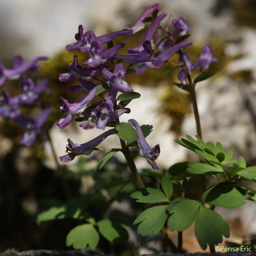
[[[74,62],[70,63],[69,69],[69,73],[59,74],[59,81],[69,82],[72,81],[74,77],[79,77],[84,80],[91,80],[93,77],[101,75],[101,71],[99,69],[81,67],[78,64],[78,58],[76,55],[74,55]]]

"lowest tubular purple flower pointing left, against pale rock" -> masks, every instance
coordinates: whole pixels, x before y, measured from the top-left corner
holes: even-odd
[[[59,157],[59,159],[63,163],[68,163],[74,160],[76,156],[79,156],[79,155],[89,156],[93,152],[96,146],[98,146],[104,139],[106,139],[107,137],[115,133],[116,133],[115,129],[111,129],[83,144],[74,143],[71,139],[68,139],[68,145],[66,146],[66,150],[68,154]]]

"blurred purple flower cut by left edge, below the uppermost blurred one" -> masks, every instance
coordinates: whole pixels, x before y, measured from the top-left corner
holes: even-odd
[[[19,109],[20,99],[18,96],[12,97],[3,90],[3,96],[0,99],[0,116],[6,119],[14,119],[22,114]]]

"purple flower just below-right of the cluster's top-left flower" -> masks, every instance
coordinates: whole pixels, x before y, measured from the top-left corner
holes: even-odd
[[[104,50],[100,42],[97,40],[92,42],[90,52],[88,53],[90,58],[83,62],[82,65],[89,65],[91,68],[96,68],[100,64],[103,64],[108,59],[114,57],[120,48],[123,48],[125,45],[118,43],[110,49]]]

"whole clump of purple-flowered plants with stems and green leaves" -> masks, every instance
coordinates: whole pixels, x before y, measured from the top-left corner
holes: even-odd
[[[255,191],[240,184],[242,180],[255,182],[256,167],[247,167],[242,156],[232,159],[233,151],[224,150],[221,143],[214,144],[202,140],[195,89],[198,82],[215,74],[208,72],[207,69],[210,63],[216,62],[217,59],[212,56],[210,46],[205,45],[199,59],[191,63],[185,52],[186,48],[192,45],[191,41],[186,40],[190,36],[187,32],[191,28],[182,17],[173,20],[172,29],[168,25],[163,26],[162,21],[167,13],[159,14],[158,7],[158,4],[154,4],[146,8],[131,28],[102,36],[96,36],[91,30],[84,33],[82,25],[79,25],[78,33],[75,34],[76,42],[66,46],[66,50],[80,51],[87,54],[88,58],[79,65],[78,57],[74,55],[73,63],[69,65],[70,72],[59,74],[59,80],[67,82],[77,78],[79,84],[69,86],[67,91],[79,91],[83,96],[74,103],[61,97],[62,117],[57,125],[60,129],[65,129],[74,119],[80,122],[79,126],[83,130],[100,129],[104,132],[88,142],[77,143],[68,139],[67,154],[60,156],[59,160],[68,163],[80,155],[89,156],[93,151],[106,151],[96,166],[97,170],[103,169],[117,153],[122,153],[131,170],[133,184],[137,187],[133,187],[131,198],[137,203],[145,204],[146,208],[134,220],[134,224],[139,224],[138,233],[147,236],[160,232],[170,250],[182,251],[182,231],[195,223],[195,234],[200,246],[206,249],[208,245],[214,252],[214,246],[222,242],[223,236],[229,237],[227,222],[214,209],[216,206],[239,207],[246,200],[256,202]],[[119,50],[124,48],[125,44],[114,44],[113,40],[120,36],[132,36],[147,23],[150,23],[150,26],[141,43],[129,48],[127,54],[119,54]],[[179,63],[170,60],[175,54],[179,55]],[[2,65],[1,82],[24,75],[34,69],[35,62],[40,59],[42,58],[23,64],[19,58],[15,58],[13,70],[7,70]],[[129,119],[128,122],[119,121],[121,115],[131,112],[127,105],[140,97],[140,94],[134,92],[127,83],[126,76],[143,73],[146,69],[157,69],[163,65],[170,65],[170,71],[179,69],[179,83],[174,84],[189,93],[197,126],[196,138],[187,135],[186,139],[176,142],[199,156],[199,162],[177,163],[170,166],[167,172],[159,171],[157,164],[161,145],[150,145],[146,141],[146,137],[152,132],[152,125],[139,124],[135,119]],[[31,79],[23,78],[22,95],[11,97],[4,92],[1,115],[23,123],[24,119],[21,118],[18,109],[19,104],[29,104],[38,94],[46,92],[45,83],[43,80],[34,86]],[[22,138],[22,143],[33,143],[35,134],[41,131],[49,112],[50,109],[46,109],[37,118],[26,119],[28,132]],[[120,148],[99,147],[109,136],[118,137]],[[148,162],[148,166],[157,170],[150,173],[156,178],[151,184],[152,187],[145,186],[145,179],[143,180],[135,165],[130,148],[138,150],[140,156]],[[215,178],[217,183],[207,187],[200,198],[191,197],[188,187],[198,177],[206,176]],[[120,190],[122,186],[119,187]],[[96,190],[91,191],[75,205],[74,201],[69,199],[65,204],[43,210],[37,215],[37,222],[63,218],[82,221],[83,223],[74,227],[67,236],[67,246],[72,245],[76,249],[96,247],[99,234],[110,243],[126,237],[127,232],[123,227],[125,222],[117,221],[105,214],[102,218],[90,214],[89,205],[98,200],[97,193]],[[109,201],[108,207],[115,199],[113,197]],[[178,232],[177,245],[169,238],[168,228]]]

